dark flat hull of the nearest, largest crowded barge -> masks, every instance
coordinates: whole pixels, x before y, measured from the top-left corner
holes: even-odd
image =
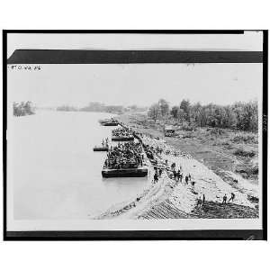
[[[137,168],[121,168],[121,169],[110,169],[104,168],[102,170],[104,178],[110,177],[145,177],[148,175],[148,167],[140,166]]]

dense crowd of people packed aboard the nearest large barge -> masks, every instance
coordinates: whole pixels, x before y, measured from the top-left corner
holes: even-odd
[[[104,168],[137,168],[142,166],[143,160],[144,156],[139,142],[119,143],[108,151]]]

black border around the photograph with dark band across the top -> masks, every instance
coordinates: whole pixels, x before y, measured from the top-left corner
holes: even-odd
[[[267,239],[267,87],[268,87],[268,31],[263,31],[263,52],[244,51],[204,51],[199,56],[196,52],[183,51],[158,51],[158,50],[92,50],[70,51],[58,50],[32,51],[24,54],[23,51],[16,58],[7,59],[7,34],[8,33],[140,33],[140,34],[242,34],[243,30],[234,31],[49,31],[49,30],[4,30],[3,31],[3,160],[4,160],[4,240],[178,240],[178,239]],[[207,230],[93,230],[93,231],[10,231],[6,228],[6,130],[7,130],[7,64],[75,64],[75,63],[263,63],[263,196],[262,196],[262,229],[207,229]],[[62,61],[62,62],[60,62]]]

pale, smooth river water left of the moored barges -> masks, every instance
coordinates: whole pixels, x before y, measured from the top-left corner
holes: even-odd
[[[101,175],[106,152],[93,147],[111,139],[115,127],[98,122],[110,116],[40,111],[9,121],[14,219],[87,219],[143,190],[148,177]]]

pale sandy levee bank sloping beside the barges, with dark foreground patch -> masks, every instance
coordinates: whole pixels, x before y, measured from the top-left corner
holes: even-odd
[[[130,126],[129,118],[121,117],[125,125]],[[176,181],[169,170],[164,170],[157,184],[149,184],[147,188],[134,197],[130,202],[121,202],[111,209],[95,217],[96,219],[177,219],[177,218],[257,218],[258,186],[251,184],[240,175],[229,171],[222,171],[231,180],[224,181],[209,167],[202,164],[188,153],[172,146],[169,141],[164,142],[149,136],[149,132],[157,136],[157,130],[148,130],[137,125],[132,128],[142,133],[142,143],[152,148],[162,148],[162,154],[154,153],[154,159],[159,166],[176,164],[182,166],[184,175],[191,175],[192,185],[183,181]],[[146,134],[147,133],[147,134]],[[159,134],[158,134],[159,135]],[[148,160],[149,177],[154,175],[154,167]],[[233,180],[237,181],[233,181]],[[222,205],[222,197],[235,193],[233,203]],[[206,202],[197,207],[198,198],[204,194]]]

